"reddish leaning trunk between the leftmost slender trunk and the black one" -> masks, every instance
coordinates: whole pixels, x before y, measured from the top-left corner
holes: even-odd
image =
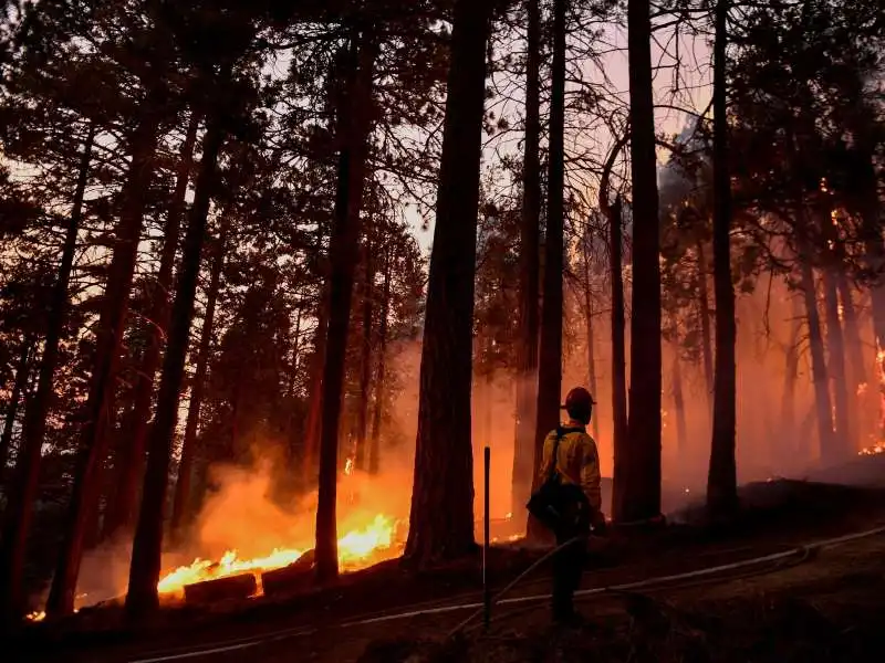
[[[148,106],[155,102],[148,101]],[[123,210],[117,225],[116,245],[111,261],[104,305],[96,333],[95,368],[86,401],[86,422],[81,438],[70,515],[59,566],[52,578],[46,612],[69,614],[74,609],[74,591],[83,559],[83,545],[88,524],[98,504],[100,473],[113,424],[113,402],[119,349],[126,326],[129,291],[135,274],[138,241],[154,179],[155,152],[159,116],[148,109],[131,137],[132,164],[123,193]]]

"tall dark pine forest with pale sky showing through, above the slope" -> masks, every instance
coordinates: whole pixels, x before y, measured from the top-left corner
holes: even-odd
[[[321,582],[354,471],[470,554],[490,441],[538,536],[575,383],[616,523],[883,449],[877,0],[0,8],[3,621],[148,614],[257,457]]]

